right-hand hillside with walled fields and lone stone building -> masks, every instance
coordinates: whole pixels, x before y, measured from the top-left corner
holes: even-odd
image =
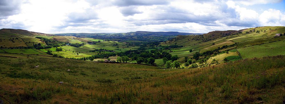
[[[203,35],[177,36],[166,42],[161,42],[160,45],[182,45],[182,48],[166,50],[172,55],[178,55],[180,57],[178,60],[181,63],[184,63],[184,57],[192,58],[196,52],[199,52],[204,55],[201,57],[205,58],[202,58],[203,60],[197,64],[209,66],[223,63],[224,58],[230,57],[226,55],[226,52],[229,51],[235,53],[232,56],[240,56],[241,58],[284,55],[285,36],[275,37],[277,33],[284,34],[285,27],[264,26],[242,30],[213,31]],[[189,50],[193,52],[189,52]],[[214,58],[217,54],[223,55]],[[213,61],[214,59],[219,60]]]

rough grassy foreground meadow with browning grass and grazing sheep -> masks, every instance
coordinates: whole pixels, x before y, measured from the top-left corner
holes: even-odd
[[[193,69],[25,57],[0,56],[0,95],[12,103],[282,103],[285,97],[285,56]]]

